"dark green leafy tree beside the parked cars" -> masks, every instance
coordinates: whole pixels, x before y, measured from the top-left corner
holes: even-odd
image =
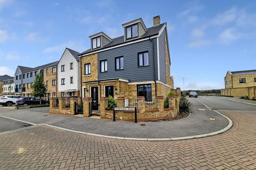
[[[43,74],[37,74],[35,82],[33,84],[33,96],[40,98],[40,105],[41,105],[41,97],[45,96],[46,91],[47,91],[47,88],[44,85]]]

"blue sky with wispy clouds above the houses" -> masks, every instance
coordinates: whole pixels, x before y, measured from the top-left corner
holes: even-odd
[[[123,35],[122,23],[167,22],[175,87],[224,87],[228,70],[256,69],[256,1],[0,0],[0,75],[17,65],[58,61],[66,47],[83,52],[89,36]]]

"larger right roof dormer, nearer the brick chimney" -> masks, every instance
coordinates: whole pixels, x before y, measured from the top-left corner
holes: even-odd
[[[147,27],[141,18],[122,24],[124,27],[124,41],[140,38]]]

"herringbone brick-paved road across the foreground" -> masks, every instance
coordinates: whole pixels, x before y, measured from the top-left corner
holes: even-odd
[[[0,134],[0,169],[255,169],[256,112],[213,137],[165,142],[91,137],[45,126]]]

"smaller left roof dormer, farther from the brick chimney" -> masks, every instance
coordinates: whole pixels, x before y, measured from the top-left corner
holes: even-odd
[[[104,32],[95,33],[89,38],[91,39],[91,50],[102,48],[112,41]]]

